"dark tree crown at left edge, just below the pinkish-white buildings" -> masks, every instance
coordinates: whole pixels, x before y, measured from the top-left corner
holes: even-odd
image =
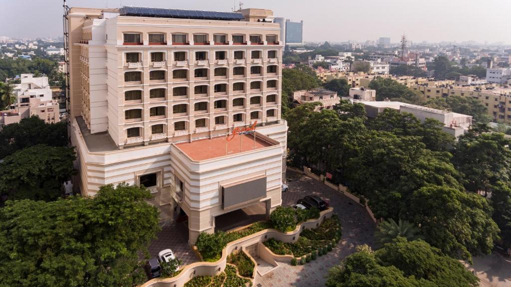
[[[66,144],[67,123],[46,124],[37,116],[22,118],[0,131],[0,159],[17,150],[35,145],[63,147]]]

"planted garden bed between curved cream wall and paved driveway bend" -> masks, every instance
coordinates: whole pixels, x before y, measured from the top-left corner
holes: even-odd
[[[303,257],[293,260],[300,263],[303,260],[308,262],[316,259],[317,256],[326,254],[339,242],[341,238],[341,224],[337,216],[325,219],[318,227],[314,229],[305,229],[300,233],[300,237],[294,243],[285,243],[271,238],[263,244],[278,255],[293,255],[294,257]],[[292,262],[292,263],[293,263]],[[302,263],[305,263],[302,262]]]

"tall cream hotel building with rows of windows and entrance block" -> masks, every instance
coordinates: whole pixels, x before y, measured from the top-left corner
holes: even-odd
[[[193,244],[221,214],[281,204],[287,124],[271,11],[185,12],[72,8],[69,120],[81,194],[144,185]]]

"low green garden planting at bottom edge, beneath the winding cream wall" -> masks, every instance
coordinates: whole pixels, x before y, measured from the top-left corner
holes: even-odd
[[[236,274],[236,267],[227,265],[224,272],[215,276],[196,276],[184,284],[184,287],[240,287],[250,280]]]

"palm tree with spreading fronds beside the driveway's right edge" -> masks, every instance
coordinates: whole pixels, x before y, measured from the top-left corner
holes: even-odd
[[[386,220],[378,225],[375,238],[380,244],[391,242],[398,236],[405,237],[408,241],[413,241],[422,238],[419,233],[421,229],[413,223],[406,220],[399,220],[398,223],[393,219]]]

